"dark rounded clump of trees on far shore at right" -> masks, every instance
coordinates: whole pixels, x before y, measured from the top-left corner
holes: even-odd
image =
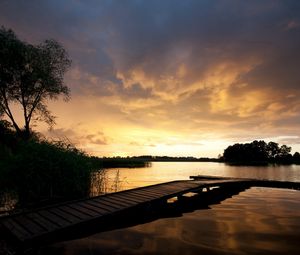
[[[291,150],[289,146],[263,140],[236,143],[224,150],[221,160],[239,165],[300,164],[299,152],[292,155]]]

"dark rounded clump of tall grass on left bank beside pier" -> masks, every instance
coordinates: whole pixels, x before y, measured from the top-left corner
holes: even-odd
[[[2,189],[15,192],[20,207],[89,195],[89,157],[61,141],[19,141],[0,167]]]

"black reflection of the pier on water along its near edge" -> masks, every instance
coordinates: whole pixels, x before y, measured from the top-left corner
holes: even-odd
[[[233,195],[239,194],[241,191],[244,191],[244,189],[232,188],[228,190],[225,188],[219,188],[210,190],[209,192],[202,192],[200,194],[193,193],[189,196],[182,196],[180,199],[174,200],[172,203],[167,203],[167,201],[157,201],[156,203],[153,202],[148,204],[148,206],[135,208],[132,211],[129,210],[127,213],[123,212],[122,217],[112,216],[112,218],[105,219],[104,221],[93,222],[92,225],[85,226],[78,231],[73,230],[72,233],[68,233],[62,237],[57,236],[56,238],[65,239],[67,236],[69,239],[76,239],[82,238],[83,236],[91,236],[92,234],[98,232],[146,224],[159,219],[182,217],[184,214],[191,213],[196,210],[210,209],[212,204],[218,204],[221,201],[232,197]],[[166,234],[168,231],[175,233],[177,230],[176,228],[173,229],[173,227],[174,226],[172,225],[164,227],[161,234],[164,232]],[[42,254],[49,254],[45,251],[54,248],[57,248],[57,246],[48,246],[43,248],[41,252]]]

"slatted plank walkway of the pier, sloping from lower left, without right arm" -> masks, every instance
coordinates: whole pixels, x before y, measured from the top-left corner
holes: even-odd
[[[173,181],[151,185],[10,215],[3,217],[0,224],[13,238],[26,242],[61,229],[121,213],[136,206],[167,200],[187,192],[197,192],[205,187],[225,183],[232,183],[232,181]]]

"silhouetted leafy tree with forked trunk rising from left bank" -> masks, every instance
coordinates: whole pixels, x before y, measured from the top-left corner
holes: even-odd
[[[63,76],[71,61],[65,49],[54,40],[31,45],[17,38],[12,30],[0,28],[0,117],[6,115],[19,135],[30,136],[32,120],[50,127],[55,117],[46,101],[69,96]],[[24,129],[20,128],[11,104],[21,106]]]

